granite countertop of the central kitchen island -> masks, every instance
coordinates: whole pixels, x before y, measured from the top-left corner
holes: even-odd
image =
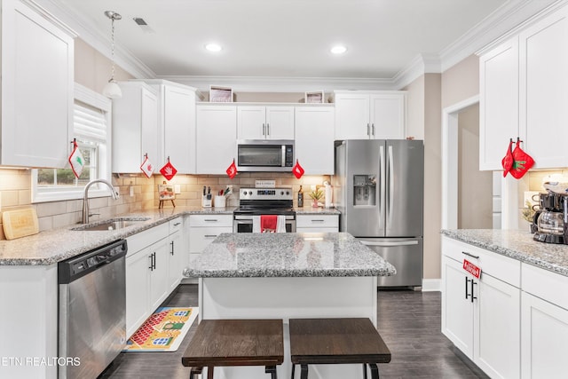
[[[390,276],[394,266],[349,233],[222,233],[192,278]]]

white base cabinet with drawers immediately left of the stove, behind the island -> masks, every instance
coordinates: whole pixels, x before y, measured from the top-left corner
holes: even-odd
[[[189,253],[190,263],[201,255],[209,243],[221,233],[233,233],[233,215],[190,215]]]

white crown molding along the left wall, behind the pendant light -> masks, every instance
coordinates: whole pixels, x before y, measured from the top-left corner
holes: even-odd
[[[112,59],[111,40],[109,36],[100,33],[99,30],[80,14],[70,11],[59,0],[36,0],[42,6],[57,17],[60,22],[75,30],[75,33],[85,43],[90,44],[106,58]],[[126,72],[136,78],[154,78],[155,73],[144,62],[136,58],[128,49],[120,43],[114,44],[114,62]]]

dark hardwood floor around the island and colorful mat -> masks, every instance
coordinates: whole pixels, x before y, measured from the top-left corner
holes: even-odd
[[[377,296],[378,330],[392,353],[390,363],[379,365],[382,379],[487,378],[440,333],[439,292],[380,290]],[[197,285],[179,286],[163,305],[197,306]],[[122,352],[99,378],[187,379],[181,356],[196,325],[177,351]]]

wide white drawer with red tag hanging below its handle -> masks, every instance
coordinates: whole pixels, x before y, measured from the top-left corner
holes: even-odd
[[[448,237],[442,239],[442,254],[461,263],[463,263],[463,259],[467,259],[481,268],[481,272],[517,288],[521,287],[521,262],[516,259],[501,256],[492,251],[477,248],[477,246]]]

